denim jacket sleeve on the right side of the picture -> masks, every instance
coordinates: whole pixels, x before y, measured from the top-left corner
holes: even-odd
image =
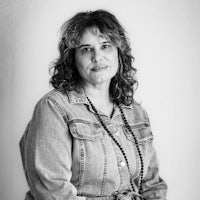
[[[147,174],[142,183],[142,196],[145,200],[166,200],[167,184],[159,176],[158,159],[152,147]]]

